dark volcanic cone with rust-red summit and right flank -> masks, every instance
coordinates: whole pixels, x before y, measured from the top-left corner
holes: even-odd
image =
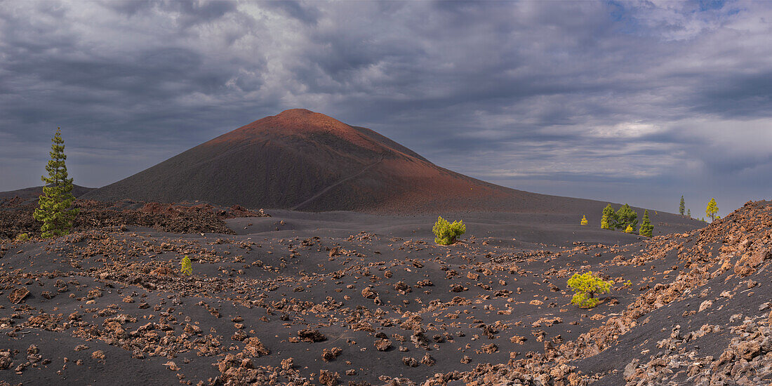
[[[570,213],[590,215],[594,222],[600,218],[592,215],[605,205],[469,178],[372,130],[301,109],[256,120],[84,198],[201,200],[311,212]]]

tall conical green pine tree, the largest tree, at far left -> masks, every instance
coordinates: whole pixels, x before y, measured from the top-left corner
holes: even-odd
[[[75,201],[73,197],[73,179],[67,178],[67,167],[64,161],[64,141],[60,128],[52,138],[51,161],[46,165],[48,177],[42,176],[45,182],[43,195],[39,197],[38,208],[35,209],[35,219],[42,222],[40,228],[42,237],[66,235],[73,228],[73,218],[78,213],[76,208],[70,208]]]

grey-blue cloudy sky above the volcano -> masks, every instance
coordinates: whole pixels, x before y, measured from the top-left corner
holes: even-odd
[[[499,185],[726,215],[772,188],[772,2],[0,0],[0,191],[304,107]]]

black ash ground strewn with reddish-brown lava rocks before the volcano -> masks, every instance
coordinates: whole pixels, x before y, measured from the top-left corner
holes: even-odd
[[[469,233],[450,246],[434,244],[428,216],[271,214],[226,220],[238,235],[131,226],[3,242],[0,379],[565,385],[772,376],[767,202],[651,240],[543,215],[469,214]],[[178,274],[185,255],[190,277]],[[592,310],[571,305],[566,288],[587,270],[617,283]]]

